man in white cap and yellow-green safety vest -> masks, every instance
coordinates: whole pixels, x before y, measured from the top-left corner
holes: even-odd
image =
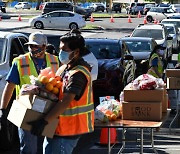
[[[25,45],[28,45],[29,52],[13,60],[12,67],[7,75],[7,83],[2,94],[0,106],[2,113],[6,112],[15,87],[16,96],[18,96],[22,85],[30,84],[30,75],[38,77],[40,71],[46,67],[51,67],[54,72],[59,68],[58,57],[45,52],[47,37],[43,33],[34,32],[30,34],[29,42]],[[39,138],[37,136],[19,128],[19,139],[20,153],[37,153],[39,149]]]

